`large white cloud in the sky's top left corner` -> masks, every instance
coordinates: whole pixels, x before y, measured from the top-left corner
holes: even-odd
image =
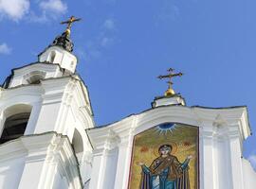
[[[0,15],[18,22],[28,13],[29,7],[29,0],[0,0]]]

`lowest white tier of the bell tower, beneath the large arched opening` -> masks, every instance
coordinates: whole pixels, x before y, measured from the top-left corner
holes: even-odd
[[[67,137],[48,132],[1,145],[0,188],[81,189],[79,164]]]

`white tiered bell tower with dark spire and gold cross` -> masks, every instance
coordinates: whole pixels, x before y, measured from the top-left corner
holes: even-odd
[[[38,61],[14,68],[0,88],[0,188],[83,188],[94,128],[87,87],[76,74],[72,16]]]

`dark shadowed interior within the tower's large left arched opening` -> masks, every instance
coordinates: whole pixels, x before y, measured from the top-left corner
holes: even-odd
[[[5,121],[0,144],[19,138],[24,135],[30,112],[21,112],[9,116]]]

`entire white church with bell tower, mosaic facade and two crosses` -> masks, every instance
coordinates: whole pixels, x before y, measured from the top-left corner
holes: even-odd
[[[152,108],[97,127],[76,72],[71,17],[0,87],[2,189],[255,189],[247,107],[186,106],[173,77]]]

